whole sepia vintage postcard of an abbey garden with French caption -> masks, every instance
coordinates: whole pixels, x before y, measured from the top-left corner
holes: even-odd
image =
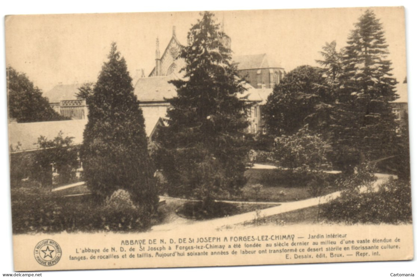
[[[403,7],[8,15],[5,50],[15,271],[413,259]]]

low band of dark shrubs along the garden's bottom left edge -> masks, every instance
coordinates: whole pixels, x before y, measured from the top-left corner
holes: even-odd
[[[62,201],[40,186],[12,189],[13,233],[143,231],[151,223],[150,212],[131,205],[124,190],[113,193],[107,205],[83,200]]]

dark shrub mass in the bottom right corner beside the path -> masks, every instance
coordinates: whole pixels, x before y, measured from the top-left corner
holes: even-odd
[[[321,216],[343,223],[411,223],[411,183],[389,178],[379,188],[370,166],[341,182],[345,190],[341,197],[322,206]],[[360,188],[365,188],[365,190]]]

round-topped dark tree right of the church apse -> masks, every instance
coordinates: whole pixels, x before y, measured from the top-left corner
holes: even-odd
[[[324,132],[331,99],[321,69],[303,65],[291,70],[274,87],[264,107],[269,134],[293,135],[307,123],[310,130]]]

